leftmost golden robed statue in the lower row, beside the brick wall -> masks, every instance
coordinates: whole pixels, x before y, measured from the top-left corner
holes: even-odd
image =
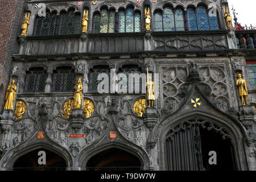
[[[13,110],[14,100],[16,97],[17,86],[15,85],[15,80],[11,81],[11,84],[7,87],[6,97],[5,97],[5,107],[3,109]]]

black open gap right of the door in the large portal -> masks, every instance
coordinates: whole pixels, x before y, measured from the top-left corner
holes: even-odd
[[[207,171],[235,171],[233,147],[229,139],[223,139],[216,131],[200,128],[203,167]],[[209,152],[215,151],[217,164],[209,164]]]

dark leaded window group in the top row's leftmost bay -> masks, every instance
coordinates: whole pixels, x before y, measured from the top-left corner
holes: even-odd
[[[56,11],[52,13],[47,10],[46,16],[36,16],[33,35],[67,35],[79,34],[80,32],[80,13],[75,13],[75,9],[61,11],[57,15]]]

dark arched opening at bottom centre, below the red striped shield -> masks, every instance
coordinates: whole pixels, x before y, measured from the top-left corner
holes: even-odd
[[[141,162],[137,156],[119,148],[110,148],[90,158],[88,171],[139,171]]]

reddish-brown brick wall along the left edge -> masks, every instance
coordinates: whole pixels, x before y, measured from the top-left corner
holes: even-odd
[[[11,57],[16,38],[19,35],[20,21],[22,21],[22,10],[26,0],[0,0],[0,114],[4,104],[6,86],[9,82],[11,69]]]

